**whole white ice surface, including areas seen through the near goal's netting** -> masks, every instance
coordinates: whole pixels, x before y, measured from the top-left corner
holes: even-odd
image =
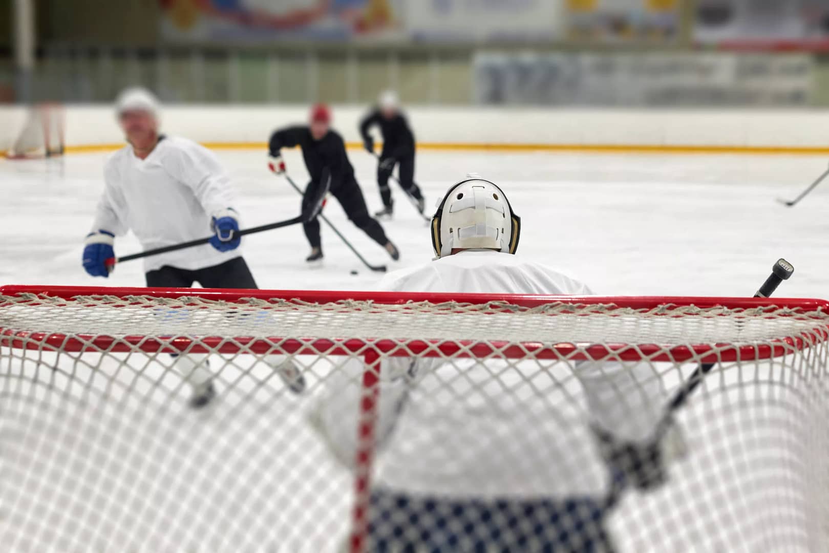
[[[243,226],[298,214],[298,195],[268,172],[264,152],[218,155],[238,187]],[[364,152],[350,155],[376,211],[376,162]],[[80,265],[104,158],[0,161],[0,284],[143,285],[140,261],[119,266],[105,280],[87,276]],[[307,173],[298,152],[288,152],[286,162],[303,185]],[[807,156],[422,152],[417,180],[430,207],[467,172],[497,182],[522,217],[520,255],[583,279],[597,293],[748,296],[785,257],[796,272],[778,295],[820,298],[829,296],[829,183],[793,208],[775,198],[797,196],[826,167],[825,159]],[[397,188],[395,198],[395,219],[384,226],[403,259],[390,267],[429,262],[428,226]],[[390,263],[346,221],[336,201],[325,213],[371,262]],[[362,267],[325,226],[322,235],[326,260],[318,269],[304,262],[308,245],[298,226],[245,238],[245,258],[260,287],[373,289],[381,275]],[[116,240],[119,255],[138,250],[131,236]],[[351,276],[352,269],[359,274]],[[48,386],[7,378],[0,390],[14,400],[0,418],[7,449],[0,458],[7,495],[0,497],[16,498],[0,503],[0,537],[12,551],[87,551],[90,544],[97,551],[336,551],[342,544],[351,477],[308,428],[307,398],[286,395],[267,367],[250,373],[259,381],[244,381],[251,390],[230,386],[250,359],[225,367],[230,373],[221,377],[221,402],[194,414],[181,379],[162,373],[167,357],[46,357],[7,362],[10,374],[28,371],[31,381]],[[42,370],[51,365],[59,370]],[[801,436],[808,430],[800,422],[811,416],[812,404],[789,394],[797,386],[779,392],[778,403],[746,400],[774,395],[768,379],[788,381],[783,371],[777,377],[763,371],[731,371],[732,381],[740,382],[733,388],[732,381],[710,376],[706,389],[730,391],[699,400],[707,393],[700,392],[682,411],[691,458],[673,469],[673,486],[641,503],[628,497],[618,509],[612,530],[620,551],[807,551],[793,546],[804,544],[804,536],[785,533],[800,521],[771,520],[781,511],[765,508],[770,502],[788,512],[796,502],[801,480],[778,474],[802,473],[802,459],[787,456],[800,450],[769,449],[775,463],[793,468],[779,473],[768,457],[740,454],[745,445],[778,444],[769,435],[794,436],[796,445],[813,441]],[[314,395],[326,374],[318,368],[306,374]],[[128,400],[119,399],[119,386],[132,393]],[[92,402],[95,409],[71,401],[96,390],[103,392],[99,404]],[[724,457],[737,460],[722,463]],[[764,476],[770,492],[755,489]],[[245,485],[234,485],[239,482]],[[652,524],[656,517],[662,526]],[[313,532],[322,543],[308,541]],[[752,536],[767,546],[735,545]],[[775,548],[780,544],[788,549]]]

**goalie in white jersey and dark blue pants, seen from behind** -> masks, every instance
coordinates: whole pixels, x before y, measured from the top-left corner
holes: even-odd
[[[381,289],[591,293],[514,255],[520,233],[503,191],[470,175],[433,218],[437,259],[389,274]],[[656,438],[666,400],[647,363],[395,357],[380,378],[371,551],[613,551],[604,521],[614,492],[666,478],[668,440]],[[349,393],[327,397],[314,423],[351,463],[361,392],[355,375],[345,381]],[[589,424],[562,425],[574,406],[555,400],[561,389],[584,395]]]

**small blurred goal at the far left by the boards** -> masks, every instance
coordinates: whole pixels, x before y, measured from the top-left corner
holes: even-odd
[[[51,158],[63,155],[64,111],[60,104],[36,104],[6,153],[9,159]]]

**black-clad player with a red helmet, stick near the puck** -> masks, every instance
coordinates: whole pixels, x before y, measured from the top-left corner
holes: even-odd
[[[385,236],[383,227],[368,214],[366,200],[360,185],[354,177],[354,167],[348,161],[346,145],[342,137],[331,129],[331,111],[325,104],[311,109],[311,124],[279,129],[270,137],[270,167],[276,173],[285,171],[285,163],[279,153],[281,148],[299,146],[303,150],[305,167],[311,175],[311,182],[305,188],[303,213],[313,206],[310,202],[316,196],[318,187],[329,183],[332,196],[337,198],[348,219],[360,227],[377,244],[383,246],[391,259],[399,260],[400,252]],[[305,236],[311,244],[311,255],[307,261],[322,260],[322,241],[319,235],[319,221],[305,223]]]

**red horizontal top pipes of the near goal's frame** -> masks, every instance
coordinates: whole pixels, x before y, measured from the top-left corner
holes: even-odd
[[[572,304],[574,306],[614,304],[620,308],[647,310],[660,306],[686,306],[697,308],[724,307],[732,309],[758,308],[776,306],[778,308],[797,308],[801,312],[829,313],[829,302],[821,299],[786,299],[786,298],[693,298],[693,297],[613,297],[613,296],[555,296],[531,294],[482,294],[482,293],[408,293],[408,292],[340,292],[308,290],[249,290],[249,289],[153,289],[153,288],[105,288],[75,286],[2,286],[0,295],[17,296],[20,294],[46,295],[51,298],[72,300],[78,297],[92,298],[129,298],[143,296],[153,298],[203,298],[225,303],[244,303],[245,298],[259,300],[280,299],[304,303],[336,303],[342,300],[372,302],[379,305],[400,305],[414,302],[428,303],[469,303],[487,304],[494,302],[508,303],[523,308],[536,308],[550,303]],[[34,303],[34,302],[33,302]],[[90,304],[90,308],[95,305]],[[266,310],[267,305],[262,306]],[[0,303],[2,309],[2,303]],[[497,308],[493,307],[493,311]],[[507,310],[505,310],[505,313]],[[445,314],[447,312],[436,312]],[[612,316],[612,313],[609,313]],[[555,314],[550,315],[555,316]],[[664,315],[670,317],[670,310]],[[818,322],[813,329],[823,339],[829,337],[826,323]],[[206,331],[209,332],[209,329]],[[541,342],[507,342],[487,340],[439,340],[410,339],[400,341],[383,337],[342,337],[338,339],[318,337],[228,337],[206,334],[197,338],[147,335],[108,336],[76,334],[67,336],[59,329],[54,333],[27,332],[13,327],[3,327],[0,319],[0,345],[17,348],[51,347],[71,352],[130,352],[139,347],[145,352],[185,352],[192,353],[286,353],[293,355],[361,355],[366,349],[390,357],[500,357],[519,359],[533,357],[536,359],[570,359],[603,360],[612,358],[618,361],[688,361],[710,363],[722,361],[749,361],[778,357],[793,349],[802,349],[810,337],[784,337],[778,342],[730,346],[727,343],[689,344],[665,347],[659,344],[574,344]],[[405,347],[401,347],[405,346]]]

